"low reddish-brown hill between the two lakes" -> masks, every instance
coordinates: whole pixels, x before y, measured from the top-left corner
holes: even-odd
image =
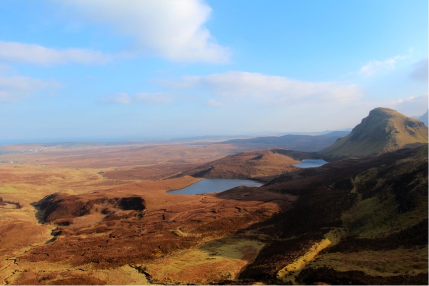
[[[241,178],[269,181],[282,173],[299,170],[292,166],[303,159],[321,159],[320,155],[285,149],[266,149],[229,155],[183,172],[202,178]]]

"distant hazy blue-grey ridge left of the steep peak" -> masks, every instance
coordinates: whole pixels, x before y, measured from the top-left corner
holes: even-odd
[[[302,152],[320,151],[338,139],[338,137],[349,134],[349,131],[333,131],[323,135],[296,135],[265,136],[250,139],[234,139],[218,144],[232,144],[241,150],[261,150],[270,148],[283,148]]]

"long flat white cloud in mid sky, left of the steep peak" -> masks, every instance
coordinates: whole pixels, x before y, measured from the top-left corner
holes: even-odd
[[[211,105],[241,101],[280,105],[319,105],[347,103],[363,94],[357,85],[340,82],[306,82],[283,76],[230,71],[207,76],[188,76],[172,82],[171,88],[202,90],[209,94]],[[213,97],[216,97],[213,99]],[[214,101],[216,100],[216,101]]]

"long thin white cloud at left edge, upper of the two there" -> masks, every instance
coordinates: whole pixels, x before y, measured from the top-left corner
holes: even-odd
[[[8,61],[50,65],[68,62],[105,63],[109,61],[110,56],[84,49],[57,50],[40,45],[0,41],[0,58]]]

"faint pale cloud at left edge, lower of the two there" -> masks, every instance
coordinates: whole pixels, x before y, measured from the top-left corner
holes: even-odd
[[[26,76],[5,76],[0,74],[0,102],[15,102],[34,95],[41,90],[61,87],[56,81],[44,81]]]

